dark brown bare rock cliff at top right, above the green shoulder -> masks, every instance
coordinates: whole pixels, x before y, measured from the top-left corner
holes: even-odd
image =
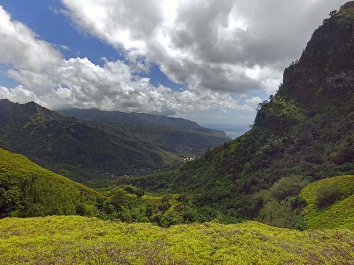
[[[354,93],[354,2],[324,20],[299,62],[284,72],[279,95],[321,110]]]

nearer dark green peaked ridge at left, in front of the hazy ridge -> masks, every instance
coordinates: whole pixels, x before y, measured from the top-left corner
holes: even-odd
[[[67,177],[79,181],[180,162],[176,155],[122,129],[83,122],[34,102],[0,100],[0,141],[52,171],[66,170]]]

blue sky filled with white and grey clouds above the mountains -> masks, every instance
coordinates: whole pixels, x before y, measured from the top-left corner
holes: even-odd
[[[0,98],[246,130],[345,2],[0,0]]]

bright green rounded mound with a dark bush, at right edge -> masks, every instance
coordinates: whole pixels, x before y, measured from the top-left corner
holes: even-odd
[[[354,176],[338,176],[312,183],[300,192],[308,228],[354,229]],[[320,204],[320,205],[319,205]]]

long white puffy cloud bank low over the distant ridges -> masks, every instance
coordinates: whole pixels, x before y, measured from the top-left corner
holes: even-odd
[[[209,108],[249,110],[229,94],[190,85],[184,91],[134,75],[136,67],[123,61],[93,64],[88,58],[64,59],[54,45],[38,39],[27,26],[12,21],[0,8],[0,60],[10,64],[7,74],[21,83],[0,87],[0,98],[34,100],[52,109],[80,107],[144,111],[171,115]],[[147,26],[148,27],[148,26]]]

